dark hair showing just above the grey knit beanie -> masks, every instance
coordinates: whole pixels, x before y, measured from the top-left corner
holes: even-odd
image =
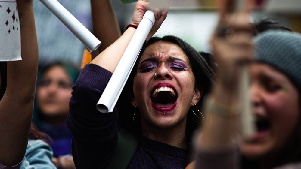
[[[263,18],[254,23],[255,29],[257,33],[262,33],[267,30],[284,30],[293,32],[286,26],[282,25],[280,22],[271,20],[270,18]]]

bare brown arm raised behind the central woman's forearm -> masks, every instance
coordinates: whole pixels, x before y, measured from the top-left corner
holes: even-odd
[[[120,28],[110,0],[91,0],[95,36],[101,41],[99,53],[113,44],[120,36]]]

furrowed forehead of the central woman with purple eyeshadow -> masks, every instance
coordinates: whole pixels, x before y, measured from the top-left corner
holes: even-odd
[[[188,63],[188,58],[186,54],[178,45],[164,41],[158,41],[148,46],[145,49],[143,55],[141,56],[139,62],[150,57],[159,57],[159,59],[166,59],[169,56],[182,59],[186,63]]]

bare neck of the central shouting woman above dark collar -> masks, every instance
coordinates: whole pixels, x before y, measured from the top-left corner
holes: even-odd
[[[152,140],[160,141],[162,143],[179,147],[187,148],[186,143],[186,118],[180,124],[172,126],[170,128],[159,128],[157,126],[143,125],[141,122],[141,128],[143,130],[142,135]]]

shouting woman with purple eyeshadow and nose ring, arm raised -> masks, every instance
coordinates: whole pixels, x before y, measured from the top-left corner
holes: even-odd
[[[183,40],[151,38],[167,11],[154,9],[157,20],[113,112],[96,109],[147,9],[149,2],[137,2],[132,26],[85,66],[73,86],[67,126],[76,168],[185,168],[190,161],[191,135],[203,118],[197,107],[214,72]]]

